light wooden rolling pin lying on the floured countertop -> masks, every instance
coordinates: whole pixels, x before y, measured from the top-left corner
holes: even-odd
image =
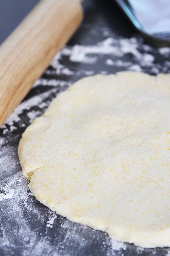
[[[41,0],[0,46],[0,126],[83,18],[80,0]]]

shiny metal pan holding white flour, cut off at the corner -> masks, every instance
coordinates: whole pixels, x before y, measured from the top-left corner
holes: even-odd
[[[114,0],[134,27],[155,47],[170,47],[170,2]]]

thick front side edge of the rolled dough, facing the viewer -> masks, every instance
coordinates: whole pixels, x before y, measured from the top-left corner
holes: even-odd
[[[144,248],[155,248],[155,247],[166,247],[167,244],[170,243],[169,234],[170,234],[170,228],[166,230],[160,230],[157,232],[140,232],[131,230],[129,233],[128,229],[120,229],[119,226],[116,224],[114,226],[108,227],[106,222],[104,222],[102,219],[90,219],[90,218],[84,218],[84,217],[75,217],[71,211],[69,212],[69,209],[67,206],[64,206],[63,204],[55,204],[51,206],[48,199],[39,199],[39,193],[37,190],[35,190],[34,186],[32,186],[32,180],[34,179],[34,175],[30,178],[29,183],[29,189],[34,194],[36,199],[40,201],[42,204],[44,204],[46,207],[48,207],[53,212],[56,212],[59,215],[62,215],[63,217],[66,217],[68,220],[76,223],[80,223],[86,226],[89,226],[90,228],[93,228],[95,230],[100,230],[103,232],[106,232],[109,237],[113,240],[120,241],[120,242],[129,242],[131,244],[134,244],[135,246],[140,246]],[[160,243],[160,236],[163,238],[164,243]],[[154,238],[154,242],[153,242]]]

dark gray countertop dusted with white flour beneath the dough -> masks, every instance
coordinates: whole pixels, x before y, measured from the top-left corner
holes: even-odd
[[[0,42],[37,0],[0,1]],[[85,0],[85,18],[24,101],[0,129],[1,256],[165,256],[168,248],[142,249],[70,222],[29,191],[17,156],[21,134],[58,92],[85,75],[121,70],[170,73],[170,48],[155,49],[131,26],[112,0]]]

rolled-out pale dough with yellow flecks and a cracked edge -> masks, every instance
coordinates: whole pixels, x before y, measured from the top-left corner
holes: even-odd
[[[115,240],[170,246],[170,74],[79,80],[26,129],[18,155],[51,210]]]

